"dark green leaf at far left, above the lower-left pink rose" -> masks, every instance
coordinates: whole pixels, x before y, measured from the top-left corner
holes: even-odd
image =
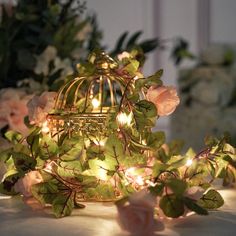
[[[13,152],[12,158],[19,173],[26,173],[30,170],[34,170],[37,164],[33,157],[20,152]]]

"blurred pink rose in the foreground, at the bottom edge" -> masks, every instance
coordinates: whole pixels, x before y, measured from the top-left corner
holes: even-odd
[[[123,230],[146,235],[154,229],[155,198],[145,190],[133,194],[127,204],[118,203],[118,223]]]

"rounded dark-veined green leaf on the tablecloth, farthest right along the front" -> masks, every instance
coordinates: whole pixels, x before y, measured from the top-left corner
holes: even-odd
[[[224,204],[224,199],[214,189],[209,190],[202,198],[197,202],[199,206],[206,209],[217,209]]]

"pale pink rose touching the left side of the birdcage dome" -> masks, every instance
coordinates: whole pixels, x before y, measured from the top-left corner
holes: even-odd
[[[31,124],[42,125],[46,117],[52,111],[55,103],[55,92],[44,92],[41,96],[34,96],[27,104],[29,110],[29,120]]]

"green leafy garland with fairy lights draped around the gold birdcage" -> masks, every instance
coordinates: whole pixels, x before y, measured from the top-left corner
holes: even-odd
[[[71,135],[61,130],[59,135],[34,126],[23,137],[8,131],[5,137],[12,146],[0,155],[8,169],[0,184],[1,193],[18,194],[16,182],[38,170],[43,182],[32,186],[32,194],[43,206],[51,205],[56,217],[85,207],[85,201],[125,201],[143,188],[159,199],[159,208],[168,217],[184,215],[186,208],[206,215],[208,209],[223,205],[212,182],[217,178],[224,185],[235,182],[236,155],[228,139],[208,138],[206,148],[199,153],[191,148],[181,153],[177,141],[164,145],[164,133],[151,131],[158,118],[156,106],[140,97],[151,86],[162,85],[162,70],[145,78],[135,66],[138,62],[134,57],[124,58],[121,63],[119,74],[126,76],[126,86],[132,85],[133,90],[122,95],[122,106],[108,116],[104,143],[99,142],[96,133],[81,135],[75,131]],[[87,76],[91,68],[92,63],[84,63],[78,73]],[[130,124],[118,122],[120,112],[132,114]],[[189,160],[191,164],[187,165]],[[193,186],[205,190],[198,200],[186,195]]]

